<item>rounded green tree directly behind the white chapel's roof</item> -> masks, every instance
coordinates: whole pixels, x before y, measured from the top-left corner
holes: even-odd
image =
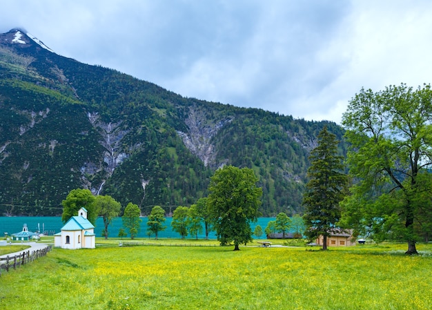
[[[63,214],[61,215],[61,221],[63,223],[68,222],[70,217],[78,215],[78,211],[81,208],[87,210],[87,219],[93,224],[96,224],[96,219],[99,215],[99,210],[95,206],[95,196],[88,189],[72,189],[68,193],[66,200],[61,202],[63,205]]]

